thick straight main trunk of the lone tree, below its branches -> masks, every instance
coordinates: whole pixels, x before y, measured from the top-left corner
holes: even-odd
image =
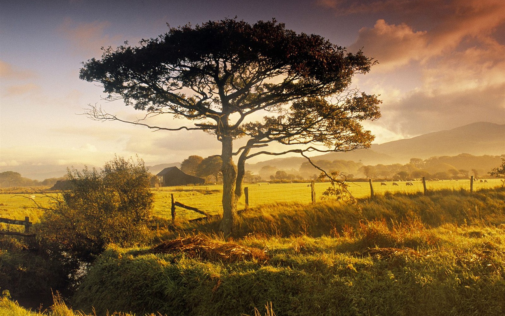
[[[233,140],[231,137],[223,137],[221,140],[221,158],[223,165],[223,218],[219,224],[219,229],[224,235],[229,235],[233,231],[235,218],[237,216],[237,196],[235,195],[235,182],[237,179],[237,167],[233,162]]]

